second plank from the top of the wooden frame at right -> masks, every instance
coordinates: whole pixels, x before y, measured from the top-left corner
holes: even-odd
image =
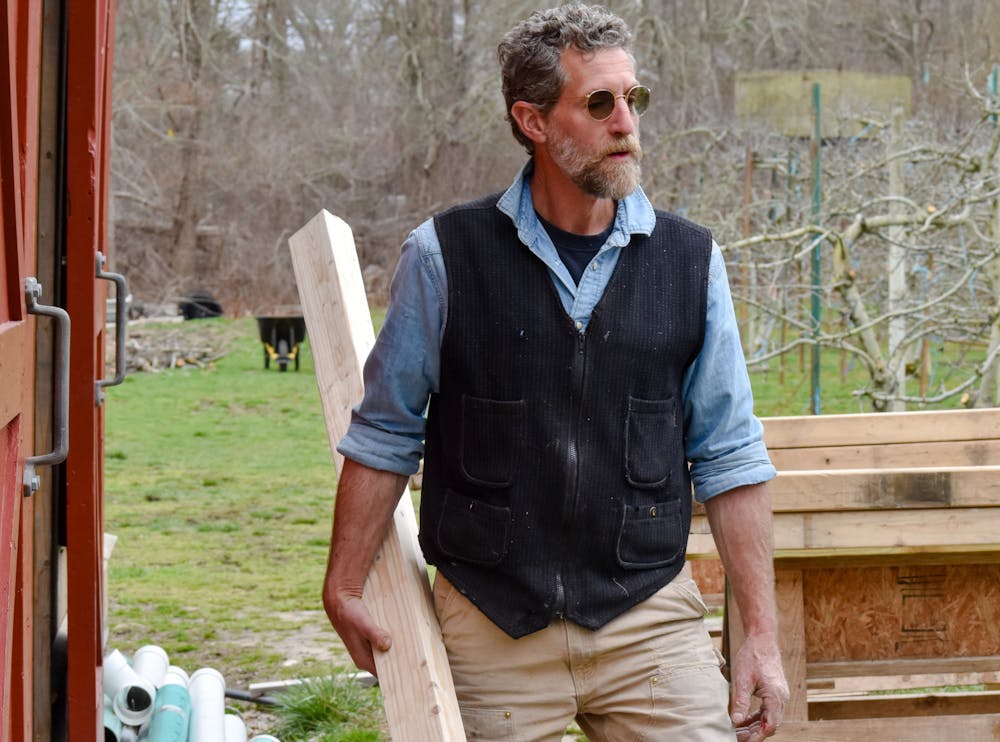
[[[873,424],[877,421],[873,421]],[[1000,461],[1000,439],[769,448],[779,472],[797,469],[904,469],[988,466]]]

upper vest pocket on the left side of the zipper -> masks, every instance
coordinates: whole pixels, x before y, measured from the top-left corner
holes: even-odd
[[[524,400],[462,397],[462,476],[482,487],[509,487],[523,433]]]

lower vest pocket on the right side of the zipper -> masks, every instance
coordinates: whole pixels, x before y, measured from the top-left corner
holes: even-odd
[[[684,549],[679,500],[625,505],[618,532],[618,563],[626,569],[665,567]]]

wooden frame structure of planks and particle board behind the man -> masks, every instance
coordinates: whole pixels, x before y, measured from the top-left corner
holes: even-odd
[[[1000,409],[764,427],[792,693],[776,739],[1000,739]],[[697,514],[689,555],[713,554]],[[741,629],[727,607],[732,656]],[[987,690],[861,693],[966,683]]]

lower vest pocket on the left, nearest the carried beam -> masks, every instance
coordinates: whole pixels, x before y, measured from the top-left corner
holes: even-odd
[[[510,508],[473,500],[446,490],[437,542],[445,554],[463,562],[497,565],[507,556]]]

